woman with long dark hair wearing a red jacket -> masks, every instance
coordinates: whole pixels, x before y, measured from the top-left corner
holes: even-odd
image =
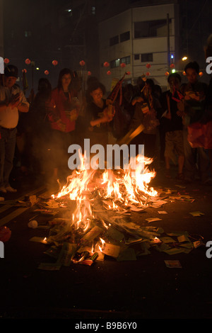
[[[68,172],[68,148],[76,140],[75,128],[80,103],[77,91],[72,84],[72,72],[68,68],[61,69],[57,88],[52,90],[49,102],[49,121],[52,128],[52,158],[54,179]]]

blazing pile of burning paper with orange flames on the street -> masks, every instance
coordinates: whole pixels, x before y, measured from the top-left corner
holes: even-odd
[[[42,208],[46,204],[61,215],[49,221],[51,229],[46,239],[47,244],[61,249],[57,266],[69,266],[71,262],[91,265],[104,256],[135,259],[150,253],[150,247],[160,246],[162,228],[131,222],[131,210],[143,211],[165,203],[148,186],[155,177],[155,172],[146,167],[149,163],[144,158],[145,168],[141,170],[138,164],[134,171],[73,171],[66,186],[41,203]]]

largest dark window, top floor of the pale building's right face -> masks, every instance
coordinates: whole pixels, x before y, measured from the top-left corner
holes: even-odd
[[[169,23],[172,20],[170,19]],[[172,25],[170,24],[170,35]],[[167,36],[167,20],[155,20],[134,23],[134,38],[165,37]]]

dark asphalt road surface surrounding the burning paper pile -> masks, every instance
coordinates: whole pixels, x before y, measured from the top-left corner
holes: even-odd
[[[47,191],[30,177],[16,185],[18,192],[6,194],[5,201]],[[170,188],[194,201],[167,201],[160,209],[133,213],[132,220],[150,225],[146,218],[161,218],[151,225],[167,233],[187,232],[192,240],[201,239],[201,246],[189,253],[167,254],[151,249],[150,254],[136,260],[117,261],[108,256],[91,266],[71,263],[57,271],[42,270],[38,266],[49,259],[44,253],[47,244],[30,239],[45,237],[47,230],[28,227],[35,206],[21,210],[1,204],[0,226],[11,230],[11,238],[4,243],[4,258],[0,259],[1,319],[211,319],[212,258],[206,256],[206,244],[212,241],[212,186],[166,179],[163,169],[151,185],[155,189]],[[160,215],[158,210],[167,214]],[[190,214],[196,211],[203,215]],[[45,218],[38,216],[36,220]],[[165,261],[170,260],[179,261],[180,267],[167,267]]]

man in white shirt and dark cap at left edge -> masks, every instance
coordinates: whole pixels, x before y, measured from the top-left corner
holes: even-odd
[[[18,111],[26,113],[29,103],[16,85],[18,68],[9,64],[4,71],[4,86],[0,86],[0,191],[16,192],[9,184],[16,147]]]

